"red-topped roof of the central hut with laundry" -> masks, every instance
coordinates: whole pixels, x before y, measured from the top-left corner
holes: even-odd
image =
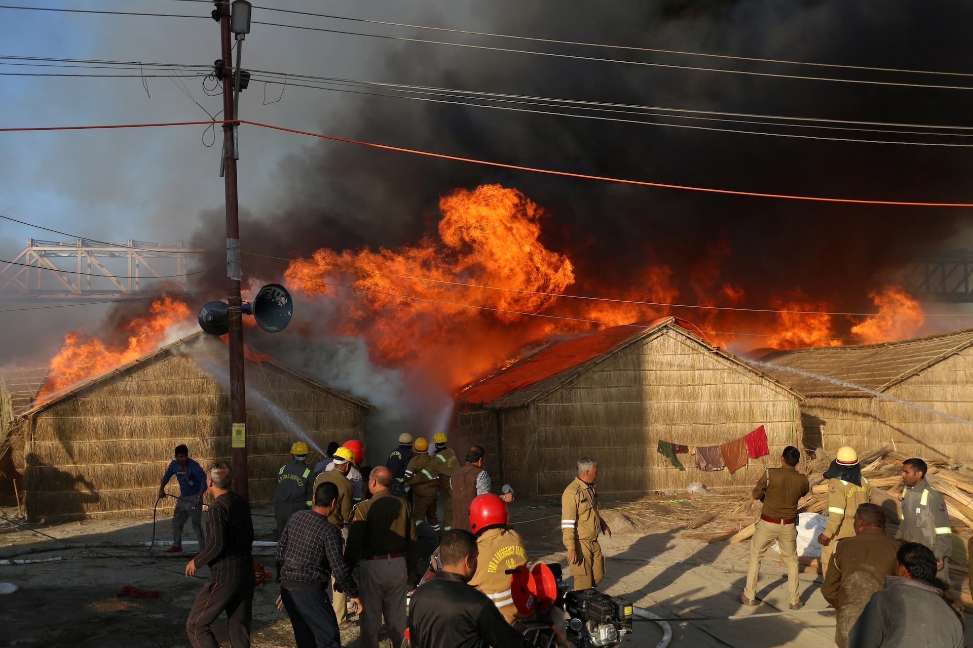
[[[520,407],[558,388],[595,364],[639,340],[663,329],[691,337],[713,354],[730,359],[748,372],[766,376],[762,371],[722,349],[712,346],[692,323],[679,318],[661,318],[651,323],[625,324],[605,328],[591,335],[572,338],[544,347],[500,373],[477,383],[457,395],[460,403],[485,403],[486,407]],[[774,382],[775,379],[771,378]],[[781,385],[793,392],[786,385]],[[800,395],[795,393],[795,395]]]

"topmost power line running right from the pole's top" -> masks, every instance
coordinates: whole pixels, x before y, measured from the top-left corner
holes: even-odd
[[[182,1],[182,2],[209,2],[209,0],[178,0],[178,1]],[[943,75],[943,76],[951,76],[951,77],[973,77],[973,74],[964,73],[964,72],[942,72],[942,71],[934,71],[934,70],[913,70],[913,69],[905,69],[905,68],[874,67],[874,66],[867,66],[867,65],[843,65],[843,64],[840,64],[840,63],[815,63],[815,62],[811,62],[811,61],[795,61],[795,60],[780,59],[780,58],[760,58],[760,57],[756,57],[756,56],[737,56],[737,55],[731,55],[731,54],[714,54],[714,53],[708,53],[708,52],[702,52],[702,51],[662,50],[662,49],[659,49],[659,48],[642,48],[642,47],[625,46],[625,45],[609,45],[609,44],[605,44],[605,43],[590,43],[590,42],[585,42],[585,41],[565,41],[565,40],[559,40],[559,39],[553,39],[553,38],[537,38],[537,37],[531,37],[531,36],[516,36],[516,35],[512,35],[512,34],[496,34],[496,33],[483,32],[483,31],[471,31],[471,30],[467,30],[467,29],[450,29],[450,28],[447,28],[447,27],[433,27],[433,26],[429,26],[429,25],[409,24],[409,23],[405,23],[405,22],[390,22],[390,21],[387,21],[387,20],[374,20],[374,19],[368,19],[368,18],[356,18],[356,17],[335,16],[335,15],[330,15],[330,14],[315,14],[313,12],[301,12],[301,11],[294,11],[294,10],[290,10],[290,9],[279,9],[279,8],[276,8],[276,7],[260,7],[260,6],[254,6],[254,9],[261,9],[261,10],[269,11],[269,12],[279,12],[279,13],[283,13],[283,14],[296,14],[296,15],[300,15],[300,16],[312,16],[312,17],[325,17],[325,18],[331,18],[331,19],[335,19],[335,20],[348,20],[348,21],[352,21],[352,22],[365,22],[365,23],[369,23],[369,24],[380,24],[380,25],[387,25],[387,26],[394,26],[394,27],[407,27],[407,28],[410,28],[410,29],[426,29],[426,30],[430,30],[430,31],[440,31],[440,32],[447,32],[447,33],[452,33],[452,34],[466,34],[466,35],[471,35],[471,36],[488,36],[488,37],[491,37],[491,38],[507,38],[507,39],[513,39],[513,40],[519,40],[519,41],[531,41],[531,42],[535,42],[535,43],[552,43],[552,44],[556,44],[556,45],[570,45],[570,46],[580,46],[580,47],[588,47],[588,48],[604,48],[604,49],[610,49],[610,50],[646,51],[646,52],[653,52],[653,53],[678,54],[678,55],[682,55],[682,56],[704,56],[704,57],[708,57],[708,58],[721,58],[721,59],[727,59],[727,60],[739,60],[739,61],[747,61],[747,62],[775,63],[775,64],[786,64],[786,65],[807,65],[807,66],[813,66],[813,67],[828,67],[828,68],[838,68],[838,69],[846,69],[846,70],[863,70],[863,71],[868,71],[868,72],[895,72],[895,73],[908,73],[908,74]]]

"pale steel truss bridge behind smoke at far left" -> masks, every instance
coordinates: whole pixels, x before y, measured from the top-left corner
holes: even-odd
[[[104,243],[89,239],[27,239],[12,262],[0,263],[0,295],[52,299],[122,297],[160,282],[186,287],[187,255],[201,252],[183,241]]]

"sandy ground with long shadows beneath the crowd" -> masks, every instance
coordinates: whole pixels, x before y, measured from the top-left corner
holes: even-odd
[[[614,504],[620,506],[621,504]],[[611,508],[613,504],[605,504]],[[145,547],[97,547],[62,549],[57,540],[71,543],[144,542],[152,537],[152,520],[85,521],[60,525],[24,525],[12,509],[0,518],[0,558],[42,559],[50,563],[0,565],[0,582],[15,583],[16,594],[0,596],[0,645],[76,646],[78,648],[188,647],[185,620],[203,578],[183,575],[189,556],[165,555]],[[255,510],[256,539],[275,535],[269,509]],[[261,516],[261,517],[256,517]],[[559,508],[551,502],[515,502],[511,521],[525,539],[531,559],[564,563],[560,545]],[[758,597],[765,604],[751,610],[739,604],[749,545],[726,542],[712,545],[680,537],[681,528],[659,524],[646,526],[625,510],[608,511],[606,520],[614,533],[602,540],[607,576],[600,589],[628,597],[633,604],[664,617],[726,617],[787,611],[786,578],[781,565],[768,560],[762,571]],[[18,523],[16,527],[12,523]],[[159,520],[156,537],[170,538],[168,518]],[[192,551],[184,531],[184,548]],[[31,553],[26,553],[31,552]],[[256,549],[255,560],[272,567],[272,549]],[[191,554],[190,554],[191,555]],[[261,557],[265,559],[261,561]],[[818,579],[815,582],[815,578]],[[130,585],[154,590],[158,598],[117,597]],[[832,646],[834,615],[813,610],[825,607],[818,592],[819,577],[802,574],[802,597],[807,602],[799,614],[736,621],[672,622],[671,646],[762,648],[770,646]],[[257,588],[254,597],[253,646],[293,646],[287,618],[277,611],[272,583]],[[810,611],[810,612],[806,612]],[[967,615],[967,627],[973,621]],[[229,646],[224,622],[218,636]],[[636,623],[626,648],[652,648],[662,631],[652,623]],[[342,644],[359,645],[357,629],[342,633]],[[383,642],[388,646],[388,642]],[[968,633],[968,646],[973,634]]]

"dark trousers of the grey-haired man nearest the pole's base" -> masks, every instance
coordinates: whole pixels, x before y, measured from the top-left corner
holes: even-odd
[[[189,645],[193,648],[220,648],[216,635],[209,627],[222,612],[226,612],[230,624],[230,645],[233,648],[250,648],[253,588],[252,580],[235,585],[206,581],[186,620]]]

